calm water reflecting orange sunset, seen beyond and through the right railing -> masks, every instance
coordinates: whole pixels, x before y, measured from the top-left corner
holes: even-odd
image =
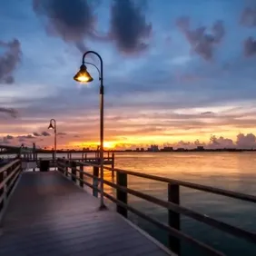
[[[256,153],[116,153],[115,167],[256,195]],[[92,172],[92,168],[85,169]],[[105,172],[104,177],[106,180],[113,181],[110,172]],[[167,200],[167,184],[165,183],[130,176],[128,186]],[[105,186],[105,189],[115,195],[112,188]],[[133,196],[129,196],[128,202],[153,218],[167,222],[165,209]],[[181,204],[222,222],[256,232],[256,205],[254,203],[181,188]],[[167,234],[164,231],[133,214],[129,214],[129,218],[159,241],[167,243]],[[182,231],[227,255],[256,255],[256,245],[226,235],[222,231],[193,221],[191,218],[182,216]],[[182,255],[205,254],[194,246],[182,243]]]

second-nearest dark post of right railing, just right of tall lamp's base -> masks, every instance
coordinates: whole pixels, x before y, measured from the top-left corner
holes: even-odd
[[[127,188],[127,174],[123,173],[123,172],[117,172],[116,173],[116,184],[118,186],[123,186],[123,187]],[[116,199],[118,201],[121,201],[121,202],[127,204],[127,192],[123,192],[123,191],[116,189]],[[123,206],[118,205],[118,204],[116,205],[116,212],[120,213],[125,218],[127,218],[127,216],[128,216],[127,209],[125,209]]]

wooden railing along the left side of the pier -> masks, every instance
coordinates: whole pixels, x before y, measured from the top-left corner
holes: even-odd
[[[20,159],[13,160],[0,167],[0,220],[5,210],[8,197],[13,191],[21,171]]]

